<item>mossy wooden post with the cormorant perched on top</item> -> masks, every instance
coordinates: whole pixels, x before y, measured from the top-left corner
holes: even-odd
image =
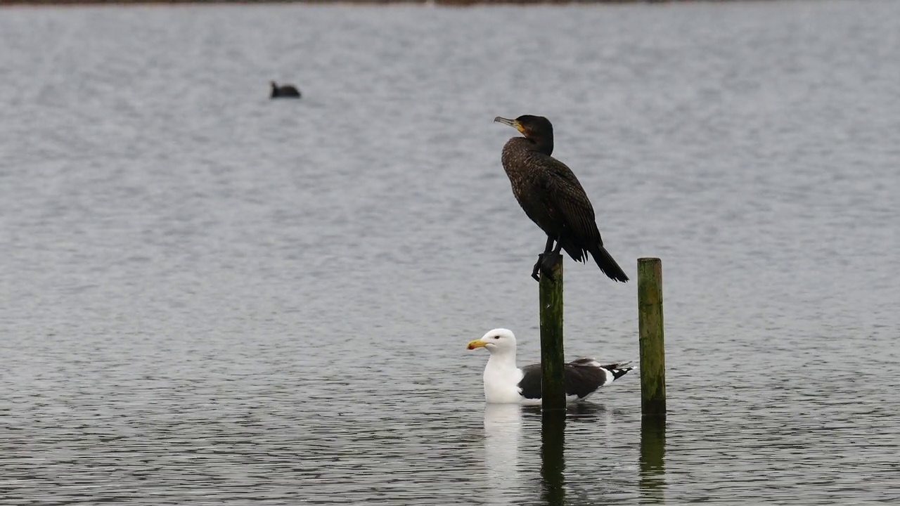
[[[553,267],[554,279],[541,276],[541,409],[564,410],[563,385],[563,256]]]

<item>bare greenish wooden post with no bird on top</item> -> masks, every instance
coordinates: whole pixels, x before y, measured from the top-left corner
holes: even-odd
[[[666,354],[662,339],[662,260],[659,258],[637,259],[637,327],[641,348],[641,414],[664,417]]]

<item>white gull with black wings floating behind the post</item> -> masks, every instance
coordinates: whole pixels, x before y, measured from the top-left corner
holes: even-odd
[[[484,367],[484,399],[491,404],[540,404],[541,365],[516,366],[516,336],[508,329],[489,330],[469,349],[491,352]],[[566,402],[581,402],[635,367],[631,362],[601,365],[593,358],[579,358],[563,368]]]

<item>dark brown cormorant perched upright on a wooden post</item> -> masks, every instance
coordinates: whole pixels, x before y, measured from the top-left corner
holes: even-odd
[[[515,120],[498,116],[494,121],[525,136],[507,141],[502,162],[519,205],[547,234],[544,253],[537,257],[531,276],[538,281],[538,272],[553,276],[550,269],[562,248],[579,262],[587,261],[590,253],[603,274],[615,281],[628,281],[622,267],[603,248],[588,194],[572,169],[550,156],[554,152],[554,125],[543,116],[532,115]]]

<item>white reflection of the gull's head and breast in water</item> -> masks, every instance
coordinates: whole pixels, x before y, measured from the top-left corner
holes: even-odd
[[[518,477],[518,438],[522,411],[518,404],[484,407],[484,465],[488,475],[488,503],[512,504],[521,493]]]

